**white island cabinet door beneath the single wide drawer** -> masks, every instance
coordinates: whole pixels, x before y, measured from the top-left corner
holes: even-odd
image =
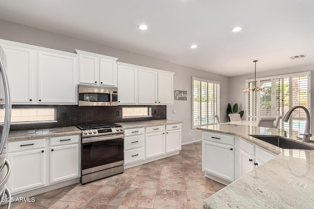
[[[235,180],[234,146],[203,140],[202,149],[202,169],[233,182]]]

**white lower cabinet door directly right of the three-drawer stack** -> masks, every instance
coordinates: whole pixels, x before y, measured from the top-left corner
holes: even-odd
[[[165,153],[165,133],[146,134],[145,157],[155,157]]]

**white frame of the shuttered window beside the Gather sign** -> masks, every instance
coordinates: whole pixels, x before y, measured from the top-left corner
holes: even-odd
[[[194,80],[196,81],[200,81],[200,82],[207,82],[207,83],[210,83],[210,84],[214,84],[215,85],[218,85],[219,86],[219,89],[216,89],[216,88],[213,88],[213,98],[216,98],[216,100],[213,101],[214,104],[216,104],[216,106],[214,107],[214,115],[220,115],[220,82],[219,81],[215,81],[215,80],[209,80],[209,79],[206,79],[206,78],[199,78],[199,77],[194,77],[192,76],[191,77],[191,128],[192,129],[196,129],[197,127],[200,127],[200,126],[204,126],[204,125],[211,125],[211,124],[216,124],[217,123],[217,118],[213,115],[212,118],[213,118],[213,121],[214,123],[209,123],[209,121],[207,122],[207,124],[200,124],[200,125],[194,125]],[[207,87],[208,89],[208,87]],[[201,92],[201,90],[200,90]],[[215,96],[214,94],[215,93],[219,93],[219,95]],[[198,94],[200,95],[200,94]],[[207,102],[208,104],[208,102]],[[200,106],[199,108],[201,109],[201,103],[200,103]],[[208,106],[207,106],[207,112],[208,112]]]

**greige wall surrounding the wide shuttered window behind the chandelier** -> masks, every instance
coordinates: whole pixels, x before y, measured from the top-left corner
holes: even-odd
[[[297,60],[295,60],[297,62]],[[306,65],[300,67],[293,67],[287,69],[279,69],[279,70],[272,70],[262,73],[257,73],[256,77],[267,77],[267,76],[274,76],[274,75],[282,75],[282,74],[289,74],[295,72],[305,72],[311,71],[311,118],[314,116],[314,64],[313,65]],[[229,101],[234,103],[238,103],[239,108],[244,110],[245,109],[245,93],[242,92],[243,88],[245,87],[245,79],[254,78],[254,74],[248,75],[241,75],[241,76],[234,76],[229,78]],[[245,115],[243,116],[245,118]],[[311,122],[311,132],[314,133],[314,120]]]

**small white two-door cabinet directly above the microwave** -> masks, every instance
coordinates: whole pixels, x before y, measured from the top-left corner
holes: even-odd
[[[76,50],[79,59],[79,83],[117,86],[118,58]]]

